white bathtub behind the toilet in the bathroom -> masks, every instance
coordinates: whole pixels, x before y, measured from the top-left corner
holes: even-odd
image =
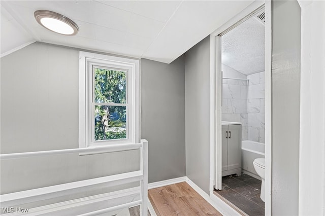
[[[265,158],[265,144],[251,140],[242,141],[242,171],[254,178],[260,179],[256,173],[253,161],[255,158]]]

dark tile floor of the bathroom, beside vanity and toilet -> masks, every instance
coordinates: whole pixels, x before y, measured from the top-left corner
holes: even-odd
[[[244,173],[228,175],[222,177],[222,190],[214,193],[248,215],[264,215],[264,202],[259,198],[261,184],[260,180]]]

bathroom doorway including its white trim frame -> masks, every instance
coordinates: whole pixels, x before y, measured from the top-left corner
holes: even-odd
[[[216,84],[213,89],[216,99],[212,101],[216,110],[215,136],[211,138],[215,140],[213,190],[223,201],[231,196],[244,197],[237,206],[235,201],[229,205],[235,204],[234,209],[248,214],[271,210],[271,32],[270,17],[266,16],[270,12],[271,7],[266,3],[211,36],[211,43],[214,42],[211,47],[215,46]],[[265,143],[269,143],[267,150]],[[265,175],[269,178],[266,198],[263,195],[266,211],[260,198],[261,174],[253,165],[255,159],[265,158],[265,151],[269,154],[265,165]],[[242,209],[243,206],[247,208]],[[249,211],[253,208],[257,211]]]

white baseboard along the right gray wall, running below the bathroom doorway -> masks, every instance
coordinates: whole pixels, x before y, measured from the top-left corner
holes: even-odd
[[[191,181],[188,177],[186,178],[186,183],[191,186],[200,196],[202,196],[208,203],[210,203],[217,211],[222,215],[241,215],[227,203],[223,202],[219,197],[212,193],[208,195],[204,190]]]

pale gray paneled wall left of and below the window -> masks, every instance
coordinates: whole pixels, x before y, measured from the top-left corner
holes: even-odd
[[[79,50],[43,43],[1,58],[1,154],[78,148],[78,67]],[[0,193],[138,170],[139,164],[138,150],[5,160]]]

